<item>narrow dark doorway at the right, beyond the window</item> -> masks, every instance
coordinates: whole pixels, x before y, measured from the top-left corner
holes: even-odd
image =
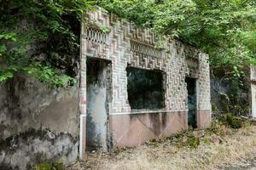
[[[189,127],[196,128],[196,79],[186,77],[188,90]]]

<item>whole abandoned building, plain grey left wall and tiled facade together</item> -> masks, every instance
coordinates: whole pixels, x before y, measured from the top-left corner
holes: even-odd
[[[208,55],[114,14],[84,16],[80,80],[49,89],[33,77],[0,86],[0,169],[85,159],[211,123]],[[108,31],[102,31],[108,27]]]

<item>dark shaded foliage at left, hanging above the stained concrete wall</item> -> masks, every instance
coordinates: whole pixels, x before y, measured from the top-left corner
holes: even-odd
[[[76,82],[80,21],[94,2],[0,1],[0,82],[16,73],[57,87]]]

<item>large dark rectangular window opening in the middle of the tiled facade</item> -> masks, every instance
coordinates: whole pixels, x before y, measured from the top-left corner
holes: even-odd
[[[131,109],[163,109],[165,105],[164,73],[127,67],[128,100]]]

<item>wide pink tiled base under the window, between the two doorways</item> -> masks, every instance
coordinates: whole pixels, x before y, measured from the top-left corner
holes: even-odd
[[[170,136],[188,129],[187,120],[185,111],[109,116],[113,147],[133,147],[148,139]]]

